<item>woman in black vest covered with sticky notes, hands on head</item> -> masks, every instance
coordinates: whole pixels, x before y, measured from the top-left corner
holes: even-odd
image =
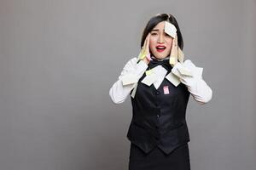
[[[183,61],[183,37],[172,14],[157,14],[143,31],[142,51],[130,59],[109,95],[115,104],[131,95],[129,170],[189,170],[189,94],[212,99],[202,68]]]

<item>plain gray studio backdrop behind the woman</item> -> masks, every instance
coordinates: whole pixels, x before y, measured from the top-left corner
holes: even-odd
[[[126,170],[131,100],[108,90],[148,19],[177,17],[207,105],[190,98],[192,170],[255,170],[253,0],[0,0],[0,169]]]

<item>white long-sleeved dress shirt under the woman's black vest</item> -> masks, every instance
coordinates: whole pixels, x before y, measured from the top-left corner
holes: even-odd
[[[126,63],[118,81],[114,82],[109,90],[109,95],[113,103],[119,104],[125,101],[131,93],[131,90],[137,88],[137,82],[143,76],[147,68],[148,65],[143,60],[137,63],[137,58],[132,58]],[[192,75],[186,76],[181,74],[180,71],[183,69],[189,71]],[[167,71],[161,65],[155,66],[152,70],[157,77],[154,82],[154,87],[157,89],[165,79]],[[202,70],[201,67],[196,67],[191,60],[187,59],[183,63],[174,65],[172,73],[179,78],[180,82],[186,85],[195,101],[200,104],[205,104],[212,99],[212,89],[207,85],[207,82],[203,80]],[[133,96],[135,93],[132,93]]]

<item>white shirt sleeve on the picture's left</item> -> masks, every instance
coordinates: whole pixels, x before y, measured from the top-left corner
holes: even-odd
[[[143,60],[137,63],[137,58],[132,58],[125,64],[118,81],[114,82],[109,90],[109,96],[114,104],[125,101],[147,68],[148,65]]]

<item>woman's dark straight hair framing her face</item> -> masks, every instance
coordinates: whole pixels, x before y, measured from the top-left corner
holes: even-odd
[[[143,48],[144,41],[145,41],[146,37],[148,36],[148,33],[153,30],[154,26],[158,25],[158,23],[160,23],[161,21],[168,20],[169,16],[170,16],[169,21],[177,29],[177,45],[179,46],[179,48],[183,49],[183,36],[182,36],[181,31],[179,30],[177,20],[175,19],[175,17],[172,14],[157,14],[154,17],[152,17],[150,20],[148,20],[148,24],[146,25],[146,27],[144,28],[144,31],[143,31],[141,48]]]

